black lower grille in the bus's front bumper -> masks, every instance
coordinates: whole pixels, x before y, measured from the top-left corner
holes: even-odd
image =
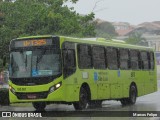
[[[17,92],[16,96],[18,99],[45,99],[48,96],[48,91],[35,92],[35,93],[20,93]]]

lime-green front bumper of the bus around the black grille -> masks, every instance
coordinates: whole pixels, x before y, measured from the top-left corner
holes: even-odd
[[[63,86],[57,86],[59,88],[54,88],[54,86],[48,88],[47,90],[43,90],[39,88],[38,90],[33,89],[32,91],[23,91],[17,92],[14,88],[9,89],[9,99],[10,103],[20,103],[20,102],[36,102],[36,101],[45,101],[45,102],[53,102],[53,101],[64,101],[64,92]],[[30,87],[31,88],[31,87]],[[23,88],[25,90],[25,87]],[[26,87],[26,89],[28,89]]]

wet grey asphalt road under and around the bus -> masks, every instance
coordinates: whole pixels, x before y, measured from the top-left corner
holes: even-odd
[[[45,110],[46,110],[46,112],[49,112],[49,111],[52,111],[52,112],[53,111],[74,111],[74,108],[72,105],[52,104],[52,105],[48,105]],[[27,104],[20,103],[20,104],[11,104],[10,106],[0,106],[0,111],[33,111],[34,112],[35,109],[29,103],[27,103]],[[158,81],[158,91],[155,93],[151,93],[151,94],[142,96],[142,97],[138,97],[135,105],[122,106],[119,101],[104,101],[102,103],[102,108],[95,108],[95,109],[88,108],[85,111],[93,111],[93,112],[94,111],[160,111],[160,80]],[[142,119],[142,118],[143,117],[140,117],[140,118],[139,117],[134,117],[134,118],[124,117],[123,119],[137,120],[137,119]],[[25,119],[27,119],[27,118],[25,118]],[[38,120],[38,118],[34,118],[34,119]],[[46,119],[46,118],[42,118],[42,119]],[[78,118],[77,117],[76,118],[75,117],[63,118],[63,116],[62,116],[62,117],[47,118],[47,119],[51,119],[51,120],[63,120],[63,119],[94,120],[94,119],[99,119],[99,117],[84,117],[83,116],[83,117],[78,117]],[[102,116],[101,119],[106,119],[106,117]],[[110,117],[110,119],[119,120],[120,118],[119,117],[118,118]],[[145,120],[146,118],[143,118],[143,119]],[[149,117],[147,119],[160,120],[160,118],[158,118],[158,117]],[[10,120],[14,120],[14,119],[10,118]]]

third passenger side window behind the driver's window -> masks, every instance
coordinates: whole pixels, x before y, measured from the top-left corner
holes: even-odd
[[[107,65],[111,70],[117,70],[118,65],[118,50],[116,48],[107,47],[106,49]]]

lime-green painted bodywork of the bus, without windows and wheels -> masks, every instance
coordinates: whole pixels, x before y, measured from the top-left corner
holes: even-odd
[[[10,102],[76,102],[79,101],[79,93],[82,84],[86,83],[90,89],[91,100],[105,100],[105,99],[117,99],[129,97],[130,85],[134,83],[137,88],[137,96],[146,95],[157,91],[157,76],[156,65],[154,70],[110,70],[108,68],[104,70],[99,69],[80,69],[78,66],[78,52],[77,44],[90,44],[99,46],[112,46],[117,48],[127,48],[136,50],[153,51],[147,47],[135,47],[132,45],[119,44],[113,42],[93,42],[84,41],[80,39],[73,39],[69,37],[60,37],[60,49],[62,50],[62,44],[64,42],[75,43],[75,57],[76,57],[76,71],[64,79],[62,75],[60,78],[56,78],[54,81],[35,86],[19,86],[13,84],[11,81],[9,85],[15,89],[16,92],[34,93],[41,91],[49,91],[52,86],[62,82],[62,85],[57,90],[48,94],[45,99],[18,99],[11,90],[9,91]],[[155,64],[154,58],[154,64]],[[24,90],[25,91],[20,91]]]

